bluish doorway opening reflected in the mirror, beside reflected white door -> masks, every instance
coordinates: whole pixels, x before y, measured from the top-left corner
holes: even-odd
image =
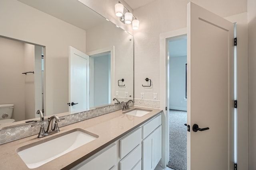
[[[110,51],[90,56],[90,107],[111,103]]]

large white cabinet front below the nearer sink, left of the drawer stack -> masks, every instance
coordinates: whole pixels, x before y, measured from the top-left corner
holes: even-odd
[[[117,146],[114,143],[71,168],[71,170],[109,170],[116,165],[116,160]]]

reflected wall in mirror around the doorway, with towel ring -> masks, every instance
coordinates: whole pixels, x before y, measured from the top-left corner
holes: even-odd
[[[114,77],[111,77],[114,90],[111,97],[116,97],[115,92],[118,91],[118,97],[124,98],[125,92],[128,92],[133,98],[133,36],[110,22],[87,29],[86,34],[86,52],[114,46]],[[118,80],[122,78],[124,87],[118,86]]]

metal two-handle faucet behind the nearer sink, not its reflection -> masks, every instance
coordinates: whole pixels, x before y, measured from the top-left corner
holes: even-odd
[[[50,117],[48,119],[49,119],[48,127],[47,127],[46,131],[44,131],[44,123],[36,123],[34,125],[31,125],[31,127],[39,126],[39,125],[41,126],[40,131],[38,133],[38,138],[45,137],[45,136],[60,132],[60,129],[58,127],[58,122],[65,118],[59,118],[57,115],[53,115],[52,117]],[[54,128],[52,128],[52,123],[53,123],[54,119],[55,119],[55,124],[54,124]]]

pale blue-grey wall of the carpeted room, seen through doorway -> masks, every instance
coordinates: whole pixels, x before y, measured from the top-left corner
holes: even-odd
[[[170,57],[170,109],[187,110],[185,63],[187,56]]]

